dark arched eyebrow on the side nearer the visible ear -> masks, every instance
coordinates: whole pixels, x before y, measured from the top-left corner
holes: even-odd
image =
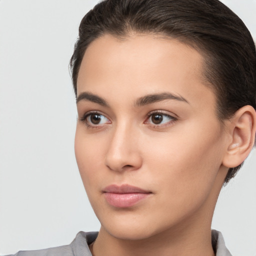
[[[143,105],[151,104],[154,102],[162,101],[165,99],[174,99],[174,100],[183,101],[189,104],[189,102],[180,95],[177,96],[170,92],[162,92],[162,93],[156,93],[156,94],[148,94],[138,98],[135,102],[135,106],[137,107],[143,106]]]

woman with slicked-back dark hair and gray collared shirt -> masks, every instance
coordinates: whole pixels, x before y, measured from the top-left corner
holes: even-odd
[[[242,21],[217,0],[105,0],[70,66],[75,155],[101,228],[17,255],[230,255],[210,225],[255,141]]]

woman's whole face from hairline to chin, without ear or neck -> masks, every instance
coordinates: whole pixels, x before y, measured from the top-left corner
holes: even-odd
[[[104,35],[87,48],[75,155],[108,234],[146,238],[215,203],[225,132],[202,70],[196,50],[152,35]]]

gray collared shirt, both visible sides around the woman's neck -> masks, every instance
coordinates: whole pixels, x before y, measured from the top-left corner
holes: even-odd
[[[96,239],[97,234],[98,232],[80,231],[69,245],[42,250],[18,251],[14,255],[6,256],[92,256],[88,244]],[[211,237],[216,256],[231,256],[219,231],[212,230]]]

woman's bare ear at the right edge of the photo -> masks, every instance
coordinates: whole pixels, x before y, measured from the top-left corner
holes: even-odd
[[[232,168],[245,160],[254,145],[256,132],[255,109],[250,105],[243,106],[235,112],[229,121],[227,125],[231,139],[227,144],[222,164]]]

